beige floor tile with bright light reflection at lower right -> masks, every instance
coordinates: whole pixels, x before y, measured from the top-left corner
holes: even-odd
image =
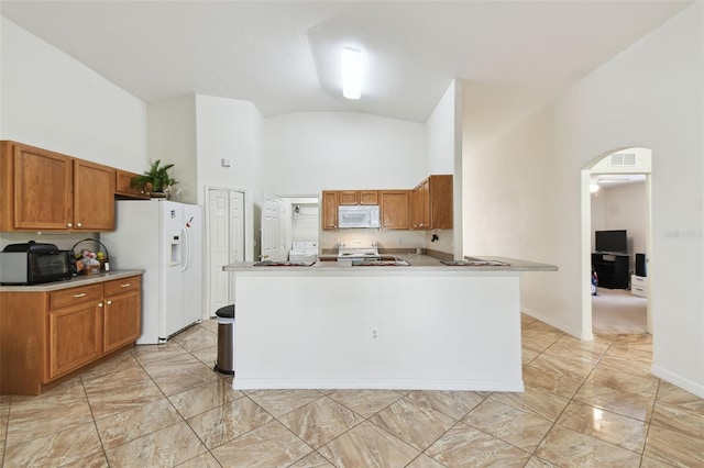
[[[568,405],[558,424],[638,454],[642,454],[648,433],[642,421],[578,402]]]

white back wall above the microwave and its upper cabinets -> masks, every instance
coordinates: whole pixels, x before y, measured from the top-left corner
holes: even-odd
[[[426,126],[358,112],[297,112],[264,121],[263,192],[407,189],[427,175]]]

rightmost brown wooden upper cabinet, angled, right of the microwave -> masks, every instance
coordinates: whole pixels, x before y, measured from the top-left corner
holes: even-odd
[[[411,230],[452,229],[452,176],[429,176],[410,196]]]

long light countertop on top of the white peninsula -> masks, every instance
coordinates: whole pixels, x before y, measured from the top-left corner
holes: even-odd
[[[519,271],[557,271],[558,267],[554,265],[540,264],[536,261],[521,260],[518,258],[496,257],[496,256],[471,256],[471,258],[479,258],[482,260],[495,260],[507,265],[480,265],[480,266],[452,266],[444,265],[438,258],[428,255],[418,254],[400,254],[396,255],[399,258],[405,259],[410,265],[408,266],[352,266],[351,261],[316,261],[312,266],[255,266],[253,261],[243,261],[226,265],[222,267],[224,271],[248,271],[248,272],[360,272],[365,274],[370,271],[384,271],[389,272],[442,272],[442,271],[458,271],[458,272],[488,272],[488,271],[504,271],[504,272],[519,272]]]

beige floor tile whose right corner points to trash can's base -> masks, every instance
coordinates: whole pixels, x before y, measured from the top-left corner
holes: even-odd
[[[144,365],[146,372],[167,397],[217,380],[218,375],[190,354]]]

